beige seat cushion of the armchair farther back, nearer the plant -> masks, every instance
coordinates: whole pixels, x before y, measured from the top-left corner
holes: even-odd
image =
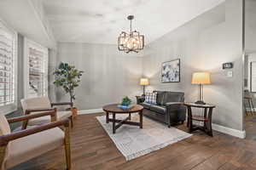
[[[39,112],[33,112],[33,114],[34,113],[39,113]],[[69,116],[72,116],[71,111],[57,111],[56,113],[57,120],[67,118]],[[40,124],[49,123],[49,122],[50,122],[50,116],[41,116],[41,117],[29,120],[28,125],[34,126],[34,125],[40,125]]]

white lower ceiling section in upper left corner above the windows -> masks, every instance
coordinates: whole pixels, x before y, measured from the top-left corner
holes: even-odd
[[[34,6],[35,4],[38,4],[37,7],[39,7],[41,3],[35,0],[0,0],[0,20],[3,20],[9,27],[18,31],[24,37],[30,38],[45,47],[55,48],[55,39],[52,34],[49,34],[49,26],[42,22],[43,20],[39,15],[38,8]],[[49,28],[49,31],[47,31],[47,28]]]

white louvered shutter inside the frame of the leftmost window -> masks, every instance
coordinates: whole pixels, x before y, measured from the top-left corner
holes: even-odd
[[[0,106],[15,103],[15,40],[0,22]]]

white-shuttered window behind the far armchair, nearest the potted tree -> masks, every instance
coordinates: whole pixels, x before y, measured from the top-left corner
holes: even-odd
[[[48,49],[25,39],[25,98],[48,95]]]

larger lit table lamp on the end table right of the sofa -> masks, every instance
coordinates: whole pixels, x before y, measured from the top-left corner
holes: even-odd
[[[192,76],[192,84],[198,84],[198,100],[195,104],[205,105],[203,101],[204,97],[204,84],[211,84],[210,73],[209,72],[194,72]]]

